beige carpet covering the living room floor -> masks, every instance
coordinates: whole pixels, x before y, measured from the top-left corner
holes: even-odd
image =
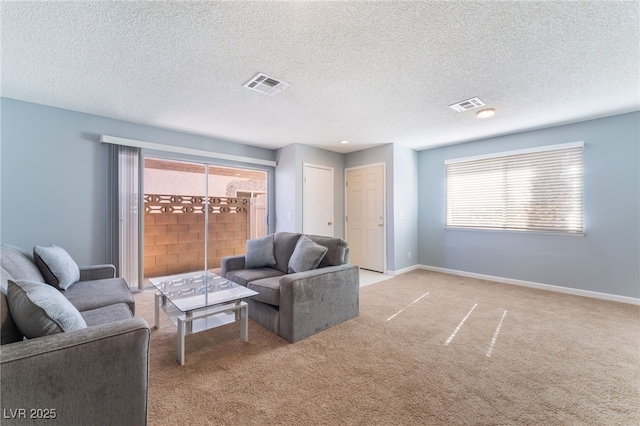
[[[153,292],[136,295],[153,325]],[[295,344],[152,330],[150,425],[638,425],[640,307],[413,271]]]

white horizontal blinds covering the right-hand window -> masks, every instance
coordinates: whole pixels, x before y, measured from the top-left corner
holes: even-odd
[[[447,227],[582,234],[583,143],[451,160]]]

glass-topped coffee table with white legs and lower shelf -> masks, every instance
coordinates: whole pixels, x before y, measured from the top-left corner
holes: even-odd
[[[240,321],[240,338],[248,340],[249,306],[242,299],[257,292],[200,271],[149,278],[160,293],[155,295],[155,326],[160,328],[160,309],[178,327],[178,363],[184,365],[185,336]]]

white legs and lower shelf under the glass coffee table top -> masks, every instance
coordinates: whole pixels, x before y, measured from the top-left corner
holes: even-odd
[[[241,300],[182,312],[166,296],[156,293],[154,320],[158,330],[160,310],[163,310],[178,327],[177,359],[180,365],[184,365],[185,362],[185,337],[189,334],[240,321],[240,338],[245,342],[249,339],[249,305]]]

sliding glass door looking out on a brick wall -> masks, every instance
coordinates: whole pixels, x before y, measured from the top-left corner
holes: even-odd
[[[267,233],[267,172],[144,159],[144,277],[213,270]]]

